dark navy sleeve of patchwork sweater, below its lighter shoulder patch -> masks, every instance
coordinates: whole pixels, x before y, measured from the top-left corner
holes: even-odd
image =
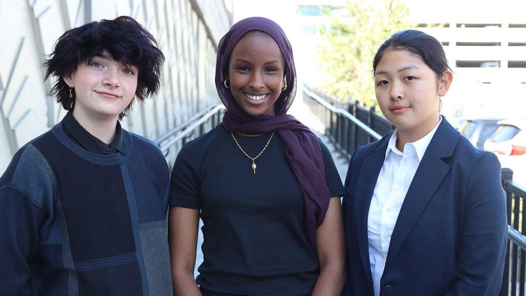
[[[43,211],[12,186],[0,188],[0,295],[30,295]]]

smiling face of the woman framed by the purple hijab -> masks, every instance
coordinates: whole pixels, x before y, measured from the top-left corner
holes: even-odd
[[[268,34],[242,37],[228,66],[230,92],[238,105],[252,116],[275,115],[274,103],[283,85],[285,58]]]

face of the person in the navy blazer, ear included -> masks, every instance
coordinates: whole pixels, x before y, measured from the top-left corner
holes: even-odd
[[[375,93],[383,115],[407,136],[421,139],[439,122],[440,96],[446,95],[451,72],[437,78],[418,56],[387,50],[376,67]]]

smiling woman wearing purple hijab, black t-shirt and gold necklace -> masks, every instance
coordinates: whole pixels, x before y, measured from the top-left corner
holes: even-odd
[[[170,181],[175,293],[339,295],[343,186],[327,147],[287,114],[296,70],[285,33],[270,19],[243,19],[217,52],[227,111],[183,146]],[[194,279],[199,218],[204,261]]]

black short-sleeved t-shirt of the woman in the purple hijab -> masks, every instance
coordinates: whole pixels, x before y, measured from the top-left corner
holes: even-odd
[[[270,133],[235,135],[251,157]],[[343,186],[321,143],[331,196]],[[310,295],[319,275],[304,218],[304,196],[279,135],[252,161],[222,124],[179,152],[170,180],[171,205],[200,209],[204,262],[197,283],[205,295]]]

